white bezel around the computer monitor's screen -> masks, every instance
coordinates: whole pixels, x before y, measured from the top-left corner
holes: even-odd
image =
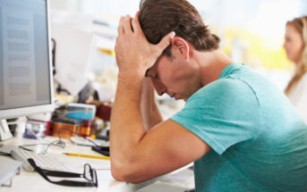
[[[51,36],[50,36],[50,18],[49,18],[49,0],[46,0],[46,10],[47,10],[47,48],[48,48],[48,62],[49,62],[49,88],[50,88],[50,104],[38,104],[33,106],[18,107],[13,109],[0,110],[0,120],[29,116],[37,113],[51,113],[54,111],[54,80],[53,80],[53,67],[51,60]]]

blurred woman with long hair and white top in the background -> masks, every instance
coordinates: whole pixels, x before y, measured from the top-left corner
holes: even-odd
[[[294,77],[285,94],[307,122],[307,16],[286,23],[286,57],[295,63]]]

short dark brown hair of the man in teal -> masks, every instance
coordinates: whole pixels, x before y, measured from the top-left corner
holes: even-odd
[[[186,0],[141,0],[139,20],[151,44],[158,44],[169,32],[190,42],[198,51],[219,48],[220,39],[211,34],[200,13]],[[163,52],[170,57],[171,46]]]

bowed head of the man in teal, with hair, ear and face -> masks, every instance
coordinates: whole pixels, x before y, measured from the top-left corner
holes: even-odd
[[[210,33],[200,13],[185,0],[142,0],[139,20],[151,44],[158,44],[169,32],[175,38],[147,72],[158,95],[166,93],[187,100],[203,85],[200,66],[191,58],[193,51],[218,49],[219,38]]]

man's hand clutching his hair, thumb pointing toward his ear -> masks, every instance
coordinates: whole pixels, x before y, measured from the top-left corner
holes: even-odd
[[[133,75],[144,76],[175,37],[175,32],[170,32],[158,45],[150,44],[141,29],[139,12],[133,19],[129,15],[122,16],[117,30],[115,53],[119,72]]]

